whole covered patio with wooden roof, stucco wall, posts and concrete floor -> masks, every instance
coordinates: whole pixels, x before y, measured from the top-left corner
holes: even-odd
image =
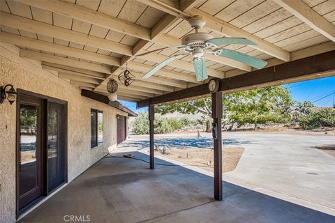
[[[3,221],[64,222],[65,215],[89,215],[91,222],[334,222],[330,215],[223,183],[221,164],[224,93],[335,75],[334,0],[0,3]],[[223,42],[216,44],[218,39]],[[16,102],[4,100],[6,86],[14,94],[17,89]],[[214,180],[194,169],[157,165],[163,161],[154,155],[155,107],[204,97],[212,100]],[[135,154],[146,162],[103,156],[119,143],[117,124],[124,139],[127,117],[135,115],[116,100],[149,107],[150,153]],[[57,135],[63,175],[53,189],[68,185],[59,191],[47,189],[50,102],[64,110],[58,121],[63,134]],[[33,190],[20,192],[17,176],[20,106],[32,103],[39,129],[31,182],[38,185],[29,198]],[[22,218],[39,199],[45,202]]]

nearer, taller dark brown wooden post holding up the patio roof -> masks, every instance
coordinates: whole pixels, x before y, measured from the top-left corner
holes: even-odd
[[[211,116],[214,138],[214,198],[222,200],[222,92],[211,94]]]

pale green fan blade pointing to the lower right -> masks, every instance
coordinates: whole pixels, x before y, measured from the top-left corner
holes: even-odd
[[[252,66],[253,68],[257,69],[264,68],[267,65],[267,61],[263,61],[256,57],[242,54],[230,49],[218,49],[214,51],[213,54],[216,56],[225,56],[235,61],[246,63],[248,66]]]

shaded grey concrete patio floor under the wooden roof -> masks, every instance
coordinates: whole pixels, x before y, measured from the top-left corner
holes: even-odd
[[[134,154],[149,160],[144,153]],[[180,166],[148,167],[140,160],[106,156],[20,223],[65,222],[65,215],[89,215],[90,222],[335,221],[332,215],[228,182],[223,183],[223,201],[215,201],[211,176]]]

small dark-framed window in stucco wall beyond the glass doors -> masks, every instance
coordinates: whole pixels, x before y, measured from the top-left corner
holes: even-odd
[[[103,112],[91,109],[91,148],[103,144]]]

